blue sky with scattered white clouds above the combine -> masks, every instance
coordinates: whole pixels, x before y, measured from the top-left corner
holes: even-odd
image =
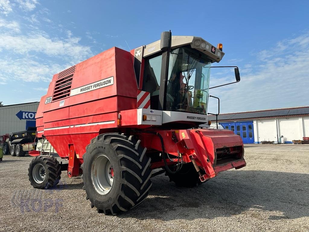
[[[171,29],[222,43],[219,64],[239,66],[240,83],[210,91],[221,113],[309,105],[307,1],[132,2],[0,0],[0,101],[39,101],[54,73]],[[230,71],[214,72],[211,85],[232,80]]]

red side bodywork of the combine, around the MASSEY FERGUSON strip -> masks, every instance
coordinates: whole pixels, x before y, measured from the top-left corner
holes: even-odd
[[[41,98],[36,126],[38,136],[44,134],[60,157],[69,155],[69,146],[64,144],[74,144],[76,154],[82,155],[100,129],[117,127],[117,112],[136,109],[138,88],[132,57],[119,48],[111,48],[77,64],[70,89],[112,76],[112,85],[45,104],[46,98],[53,96],[58,74],[53,76],[47,94]]]

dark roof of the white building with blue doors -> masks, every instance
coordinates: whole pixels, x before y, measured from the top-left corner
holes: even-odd
[[[273,109],[273,110],[259,110],[229,114],[219,114],[218,120],[230,121],[237,119],[251,119],[251,118],[276,118],[276,117],[287,117],[287,116],[301,116],[309,115],[309,106],[286,108],[286,109]],[[215,115],[209,115],[208,120],[215,121]]]

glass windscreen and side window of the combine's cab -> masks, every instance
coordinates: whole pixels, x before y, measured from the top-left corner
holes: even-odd
[[[163,110],[206,114],[210,65],[207,55],[187,46],[171,50]],[[142,90],[150,92],[150,109],[159,110],[162,54],[146,58],[144,67]]]

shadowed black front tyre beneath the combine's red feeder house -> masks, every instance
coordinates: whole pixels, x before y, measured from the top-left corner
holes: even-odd
[[[176,174],[171,174],[166,171],[165,175],[170,178],[170,181],[175,182],[178,187],[192,188],[204,183],[201,182],[199,175],[191,162],[184,164]]]

